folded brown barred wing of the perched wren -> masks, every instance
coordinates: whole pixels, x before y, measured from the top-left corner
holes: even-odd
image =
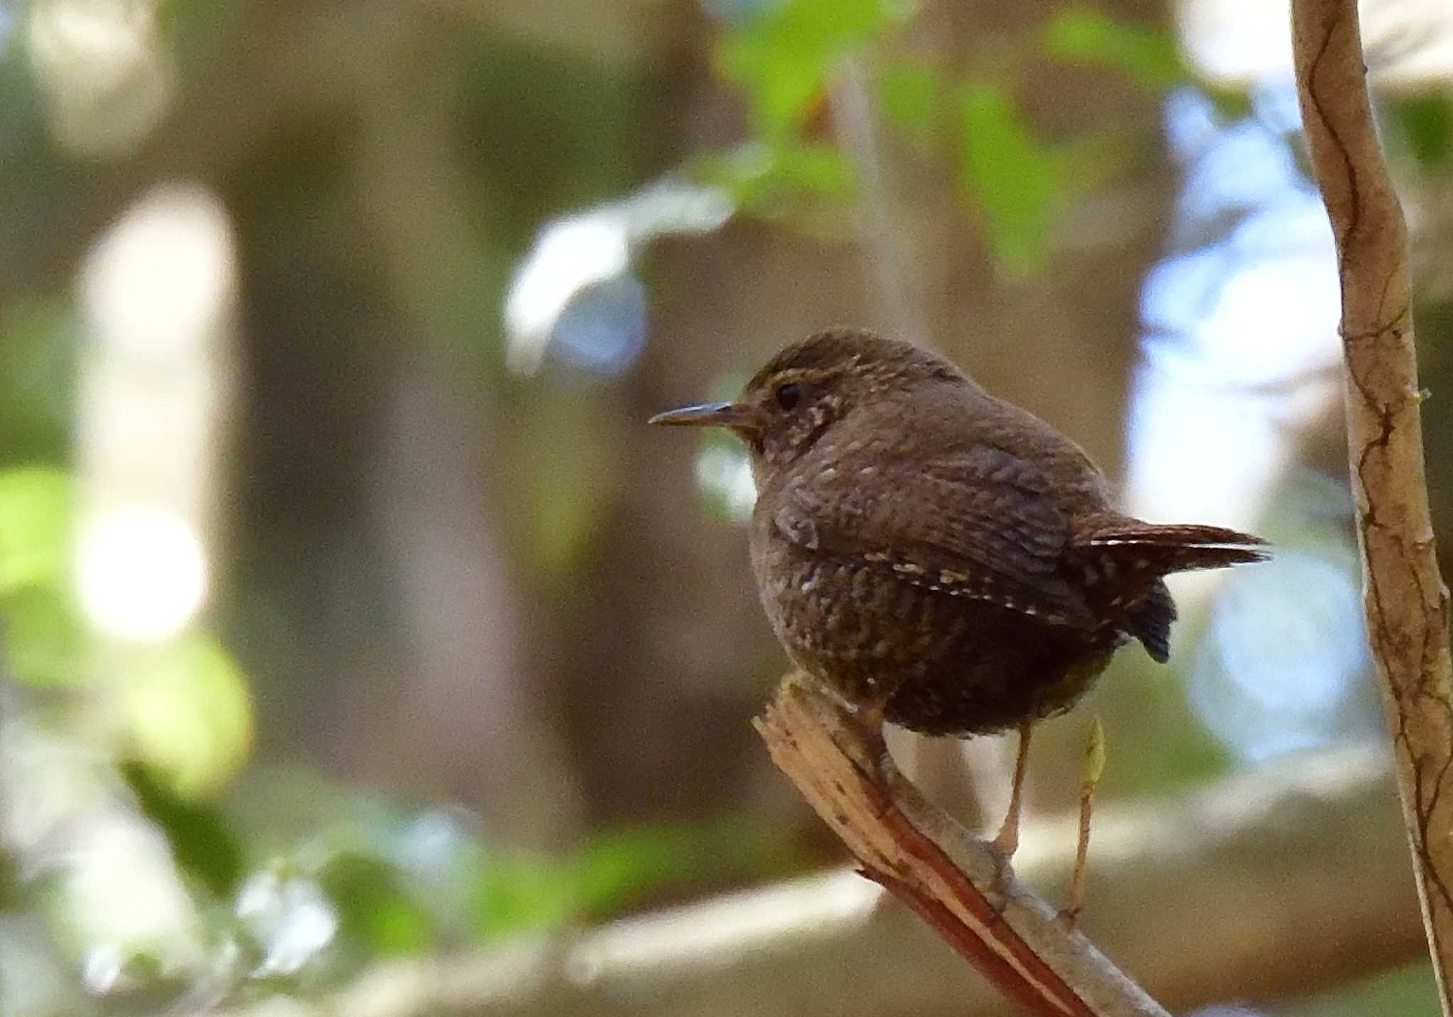
[[[988,600],[1048,622],[1091,626],[1059,574],[1069,524],[1049,478],[987,445],[924,461],[878,461],[788,484],[773,524],[822,555],[851,555],[895,578]]]

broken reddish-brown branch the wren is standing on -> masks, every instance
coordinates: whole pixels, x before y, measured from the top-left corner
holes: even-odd
[[[988,844],[930,805],[833,700],[785,681],[757,721],[772,758],[863,863],[1030,1013],[1165,1017]]]

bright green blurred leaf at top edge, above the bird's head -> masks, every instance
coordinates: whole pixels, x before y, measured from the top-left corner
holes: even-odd
[[[843,54],[904,13],[888,0],[785,0],[731,31],[718,45],[716,65],[745,89],[757,134],[786,141]]]

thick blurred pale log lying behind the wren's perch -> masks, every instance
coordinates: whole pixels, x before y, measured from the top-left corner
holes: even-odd
[[[1029,824],[1016,870],[1068,880],[1074,819]],[[1306,755],[1096,815],[1081,921],[1177,1013],[1407,963],[1422,930],[1383,751]],[[1350,878],[1348,873],[1356,873]],[[849,870],[445,957],[381,963],[323,998],[228,1017],[911,1017],[1017,1011]],[[1215,963],[1207,959],[1213,957]]]

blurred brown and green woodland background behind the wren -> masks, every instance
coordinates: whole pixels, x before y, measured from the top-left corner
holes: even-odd
[[[1440,394],[1453,28],[1366,7]],[[742,459],[644,427],[833,324],[1282,545],[1175,587],[1170,668],[1120,655],[1104,796],[1380,731],[1284,7],[9,0],[0,46],[7,1017],[837,860],[748,726],[783,658]],[[997,817],[995,740],[895,750]],[[1287,1007],[1434,1013],[1418,969]]]

